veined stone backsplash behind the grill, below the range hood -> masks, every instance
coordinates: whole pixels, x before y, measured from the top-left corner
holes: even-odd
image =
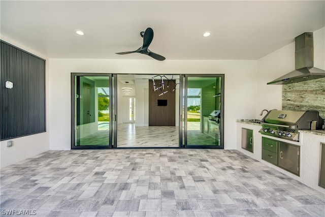
[[[283,110],[317,110],[325,118],[325,78],[282,85]]]

